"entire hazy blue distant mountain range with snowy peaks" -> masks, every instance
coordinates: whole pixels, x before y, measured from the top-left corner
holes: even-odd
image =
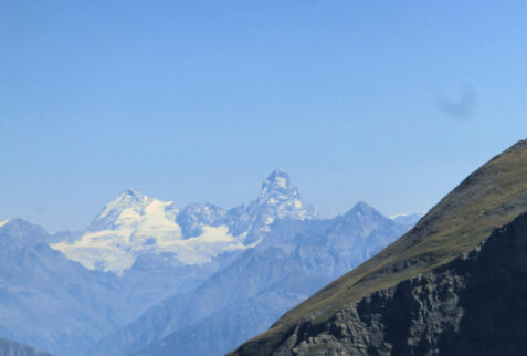
[[[418,217],[318,219],[288,175],[223,209],[128,189],[82,232],[0,223],[0,336],[55,355],[221,354],[366,261]],[[175,352],[177,350],[177,352]]]

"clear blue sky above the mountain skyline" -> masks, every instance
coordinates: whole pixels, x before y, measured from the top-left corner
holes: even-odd
[[[525,1],[0,0],[0,220],[135,187],[424,211],[527,137]]]

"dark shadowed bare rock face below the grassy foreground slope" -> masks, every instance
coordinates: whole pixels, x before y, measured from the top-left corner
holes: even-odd
[[[273,355],[525,355],[527,213],[432,272],[305,320]],[[238,349],[243,355],[243,347]]]

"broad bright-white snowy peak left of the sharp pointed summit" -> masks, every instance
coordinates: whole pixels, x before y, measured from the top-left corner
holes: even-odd
[[[157,251],[180,238],[175,222],[179,210],[172,201],[160,201],[127,189],[106,205],[76,241],[52,244],[88,269],[123,273],[138,253]]]

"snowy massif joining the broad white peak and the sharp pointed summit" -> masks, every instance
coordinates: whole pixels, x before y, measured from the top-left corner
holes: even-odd
[[[145,253],[172,255],[181,264],[211,261],[226,251],[259,243],[277,219],[310,219],[289,176],[274,170],[249,205],[226,210],[210,203],[191,203],[179,210],[127,189],[106,205],[75,241],[52,244],[88,269],[125,273]]]

